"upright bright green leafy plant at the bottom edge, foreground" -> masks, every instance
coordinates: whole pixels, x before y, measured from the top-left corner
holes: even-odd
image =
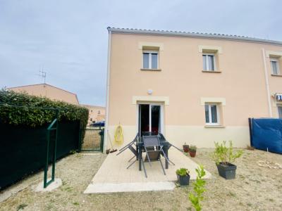
[[[193,184],[193,190],[195,193],[190,193],[188,198],[192,203],[192,206],[195,208],[195,210],[200,211],[202,210],[202,205],[200,204],[200,202],[201,200],[204,199],[202,194],[204,193],[204,191],[206,191],[206,189],[204,188],[206,181],[204,181],[202,177],[206,175],[206,172],[204,171],[204,167],[202,165],[200,165],[200,167],[196,169],[196,172],[197,172],[197,179]]]

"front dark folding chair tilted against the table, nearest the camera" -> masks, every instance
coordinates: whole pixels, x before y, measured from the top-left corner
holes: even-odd
[[[164,158],[168,162],[171,162],[167,158],[166,153],[164,153],[164,150],[162,148],[163,146],[161,146],[161,144],[159,142],[159,136],[142,136],[142,139],[143,139],[143,144],[144,144],[144,150],[145,150],[145,153],[146,153],[145,161],[148,161],[150,166],[152,166],[151,165],[152,161],[161,162],[161,155],[163,155]],[[142,158],[141,162],[142,162],[142,165],[143,165],[143,168],[144,168],[145,177],[147,177],[147,172],[146,172],[145,165],[144,165],[145,161]],[[171,162],[171,163],[173,163],[173,162]],[[164,171],[164,166],[163,166],[162,162],[161,162],[161,168],[164,172],[164,175],[166,175],[166,172]]]

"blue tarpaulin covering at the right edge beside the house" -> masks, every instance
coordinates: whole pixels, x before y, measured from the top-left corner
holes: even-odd
[[[252,146],[282,154],[282,119],[252,119]]]

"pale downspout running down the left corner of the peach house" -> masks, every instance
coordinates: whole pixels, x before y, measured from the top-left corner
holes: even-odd
[[[106,70],[106,122],[105,122],[105,130],[104,130],[104,152],[106,151],[106,141],[108,140],[108,132],[109,132],[109,92],[110,92],[110,71],[111,71],[111,30],[109,27],[107,28],[109,31],[108,38],[108,63]]]

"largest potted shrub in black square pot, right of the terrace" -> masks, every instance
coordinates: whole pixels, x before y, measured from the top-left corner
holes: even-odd
[[[215,147],[216,148],[214,149],[212,157],[216,162],[219,175],[225,179],[235,179],[237,167],[231,162],[234,162],[235,159],[240,158],[240,156],[243,155],[243,151],[239,150],[234,153],[232,141],[229,141],[229,147],[226,146],[226,141],[223,141],[223,143],[215,142]]]

